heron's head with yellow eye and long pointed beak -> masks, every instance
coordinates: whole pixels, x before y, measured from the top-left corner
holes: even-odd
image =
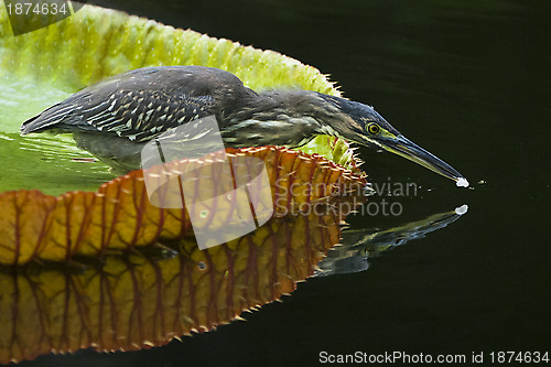
[[[375,149],[383,149],[451,179],[458,186],[468,185],[460,172],[407,139],[372,107],[338,97],[329,98],[339,111],[332,119],[331,127],[346,140]]]

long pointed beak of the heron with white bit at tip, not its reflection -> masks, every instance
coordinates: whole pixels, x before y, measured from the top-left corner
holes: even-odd
[[[378,144],[389,152],[401,155],[444,177],[455,181],[457,186],[468,186],[467,180],[453,166],[401,134],[396,138],[379,140]]]

